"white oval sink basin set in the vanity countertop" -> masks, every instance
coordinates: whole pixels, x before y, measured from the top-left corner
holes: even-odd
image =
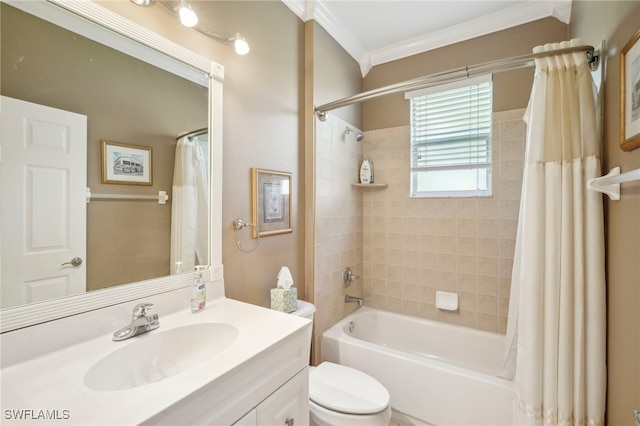
[[[94,364],[84,376],[84,384],[97,391],[148,385],[202,364],[237,337],[234,326],[214,322],[151,331],[114,343],[126,346]]]

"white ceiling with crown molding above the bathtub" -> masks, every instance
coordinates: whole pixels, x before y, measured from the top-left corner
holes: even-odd
[[[282,0],[371,67],[546,17],[568,23],[572,0]]]

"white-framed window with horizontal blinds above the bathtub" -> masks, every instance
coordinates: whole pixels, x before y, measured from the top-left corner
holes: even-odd
[[[411,197],[491,195],[491,75],[405,94]]]

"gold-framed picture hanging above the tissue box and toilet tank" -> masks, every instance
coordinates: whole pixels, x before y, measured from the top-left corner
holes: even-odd
[[[258,231],[253,238],[293,232],[291,173],[251,169],[251,214]]]

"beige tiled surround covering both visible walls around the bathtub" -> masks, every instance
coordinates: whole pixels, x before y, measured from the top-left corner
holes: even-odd
[[[329,115],[316,127],[314,353],[322,333],[365,305],[504,333],[515,246],[525,126],[524,110],[494,113],[493,196],[410,199],[409,128],[345,135]],[[350,126],[352,127],[352,126]],[[384,189],[356,188],[367,156]],[[342,287],[349,266],[361,278]],[[456,292],[460,309],[435,307],[437,290]]]

